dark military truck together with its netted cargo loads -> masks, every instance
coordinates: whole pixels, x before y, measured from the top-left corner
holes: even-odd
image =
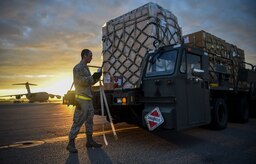
[[[167,129],[224,129],[228,119],[248,121],[256,68],[235,45],[205,31],[182,37],[176,16],[155,3],[110,20],[102,34],[103,82],[114,122],[146,126],[156,108]]]

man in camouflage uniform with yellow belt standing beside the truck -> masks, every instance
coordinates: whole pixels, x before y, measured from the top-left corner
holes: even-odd
[[[75,138],[83,124],[86,127],[86,137],[87,143],[86,147],[101,147],[101,144],[96,143],[92,139],[93,133],[93,116],[94,108],[92,104],[92,89],[91,86],[94,85],[100,78],[100,73],[94,73],[91,76],[90,70],[87,63],[92,60],[92,52],[88,49],[84,49],[81,52],[82,60],[73,69],[73,78],[76,93],[76,109],[73,117],[73,125],[69,134],[69,143],[67,150],[71,153],[76,153],[77,149],[75,147]]]

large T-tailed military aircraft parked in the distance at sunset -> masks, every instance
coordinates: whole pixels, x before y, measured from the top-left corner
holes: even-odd
[[[54,98],[56,97],[57,99],[60,99],[61,96],[60,95],[55,95],[55,94],[49,94],[47,92],[35,92],[35,93],[31,93],[30,91],[30,85],[33,86],[37,86],[36,84],[32,84],[29,82],[26,83],[17,83],[17,84],[12,84],[12,85],[25,85],[26,89],[28,91],[28,93],[25,94],[16,94],[16,95],[6,95],[6,96],[1,96],[1,97],[12,97],[15,96],[16,99],[20,99],[22,96],[26,96],[26,98],[29,100],[29,102],[35,102],[35,101],[39,101],[39,102],[45,102],[50,98]]]

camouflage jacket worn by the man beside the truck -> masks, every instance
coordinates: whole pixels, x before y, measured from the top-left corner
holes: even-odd
[[[82,61],[73,68],[74,85],[76,94],[92,98],[92,85],[97,81],[91,76],[91,72],[86,64]]]

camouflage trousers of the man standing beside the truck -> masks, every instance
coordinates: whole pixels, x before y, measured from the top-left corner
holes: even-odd
[[[85,133],[93,133],[94,108],[92,101],[77,99],[79,105],[76,106],[73,125],[70,129],[69,139],[75,139],[83,124],[85,124]]]

